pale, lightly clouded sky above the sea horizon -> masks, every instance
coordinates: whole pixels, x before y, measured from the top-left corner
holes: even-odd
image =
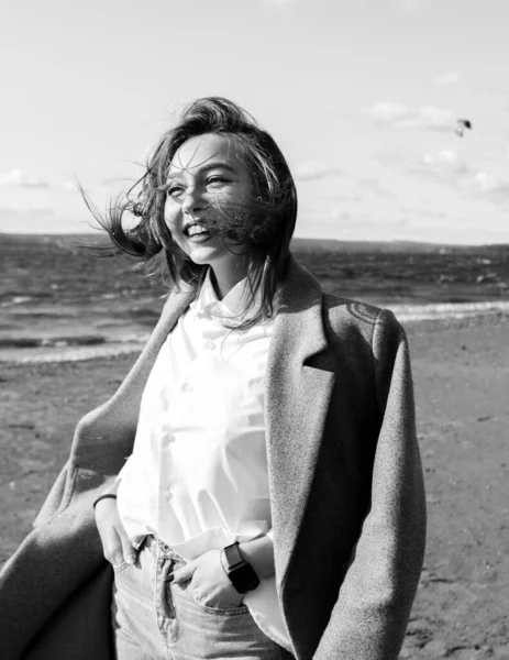
[[[7,0],[0,232],[89,232],[186,102],[268,130],[297,237],[509,243],[507,0]],[[456,133],[458,119],[472,130]]]

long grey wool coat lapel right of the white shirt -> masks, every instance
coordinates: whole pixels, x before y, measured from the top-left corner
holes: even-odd
[[[278,591],[306,509],[334,374],[312,366],[328,348],[322,292],[290,257],[267,365],[265,418]]]

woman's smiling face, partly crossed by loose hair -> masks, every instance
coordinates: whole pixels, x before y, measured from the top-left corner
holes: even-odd
[[[165,220],[179,248],[214,272],[237,270],[239,256],[232,252],[242,250],[226,250],[223,240],[207,231],[209,220],[248,207],[252,200],[252,177],[237,148],[212,133],[188,140],[171,161],[167,185]]]

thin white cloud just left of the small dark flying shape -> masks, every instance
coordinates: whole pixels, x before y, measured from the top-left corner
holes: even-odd
[[[362,111],[378,123],[402,129],[418,128],[429,131],[452,131],[455,129],[457,121],[457,116],[453,110],[435,108],[434,106],[409,108],[401,103],[378,102],[370,108],[364,108]]]

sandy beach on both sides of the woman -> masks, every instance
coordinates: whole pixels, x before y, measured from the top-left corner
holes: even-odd
[[[401,658],[509,659],[507,317],[406,327],[429,534]],[[1,365],[0,564],[30,530],[76,422],[134,359]]]

